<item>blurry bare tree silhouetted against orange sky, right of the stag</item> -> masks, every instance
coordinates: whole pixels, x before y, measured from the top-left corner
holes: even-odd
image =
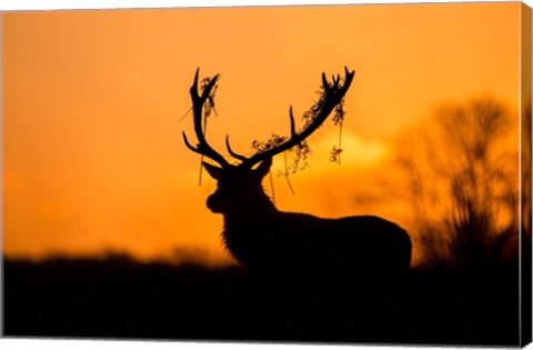
[[[517,126],[511,117],[493,98],[449,104],[398,144],[429,264],[485,266],[516,254]]]

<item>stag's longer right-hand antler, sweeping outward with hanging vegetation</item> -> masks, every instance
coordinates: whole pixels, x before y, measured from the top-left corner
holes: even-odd
[[[265,150],[261,150],[255,154],[253,154],[252,157],[247,158],[244,156],[233,152],[233,150],[230,147],[230,142],[227,138],[225,144],[228,150],[230,151],[230,154],[242,161],[240,167],[241,166],[253,167],[253,164],[262,160],[271,158],[275,154],[279,154],[283,151],[286,151],[293,148],[296,144],[300,144],[303,140],[305,140],[309,136],[311,136],[311,133],[313,133],[324,122],[325,119],[328,119],[331,111],[335,108],[336,104],[341,102],[348,89],[350,88],[350,84],[352,83],[354,74],[355,74],[355,71],[350,72],[348,68],[344,67],[344,83],[341,86],[340,74],[338,74],[336,78],[333,76],[333,81],[330,84],[330,82],[328,82],[328,80],[325,79],[325,73],[322,73],[323,93],[322,93],[322,100],[316,106],[318,107],[316,114],[306,126],[304,126],[304,128],[300,132],[296,132],[294,116],[292,113],[292,106],[291,106],[289,109],[289,118],[291,121],[291,136],[290,138],[286,139],[286,141],[278,146],[268,148]]]

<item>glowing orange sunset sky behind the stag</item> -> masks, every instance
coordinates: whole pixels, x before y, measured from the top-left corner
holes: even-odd
[[[519,2],[4,12],[3,249],[10,256],[178,247],[224,257],[222,217],[198,184],[189,88],[221,73],[209,139],[289,132],[289,106],[312,106],[322,71],[356,71],[345,98],[342,164],[331,120],[310,138],[311,167],[272,177],[282,210],[373,213],[406,228],[379,190],[390,140],[443,102],[494,96],[517,110]],[[282,169],[283,157],[274,160]],[[266,184],[266,183],[265,183]],[[270,193],[270,186],[265,186]]]

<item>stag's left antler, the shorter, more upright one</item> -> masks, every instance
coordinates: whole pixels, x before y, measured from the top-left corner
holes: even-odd
[[[211,90],[213,89],[214,84],[217,83],[217,79],[219,79],[219,74],[214,76],[205,88],[202,91],[202,96],[198,94],[198,76],[200,72],[200,68],[197,69],[197,73],[194,76],[194,83],[191,87],[191,98],[192,98],[192,112],[194,119],[194,132],[197,134],[198,144],[193,147],[189,140],[187,139],[187,134],[184,131],[183,133],[183,141],[185,146],[193,152],[205,156],[215,162],[218,162],[223,168],[229,167],[230,163],[222,157],[219,152],[217,152],[205,140],[204,131],[202,130],[202,109],[203,103],[209,99]]]

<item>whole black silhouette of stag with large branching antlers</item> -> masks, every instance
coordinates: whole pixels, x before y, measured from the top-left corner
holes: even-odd
[[[228,151],[240,161],[239,164],[231,164],[205,140],[202,112],[219,76],[204,80],[199,94],[199,69],[197,70],[190,93],[198,144],[192,146],[184,132],[183,140],[190,150],[220,166],[202,162],[208,173],[217,180],[217,190],[208,198],[207,207],[223,216],[224,246],[252,274],[311,273],[331,277],[345,273],[390,273],[409,269],[411,239],[395,223],[374,216],[323,219],[305,213],[282,212],[275,208],[261,184],[270,171],[272,157],[301,144],[341,102],[355,74],[348,68],[344,70],[344,78],[341,79],[338,74],[331,83],[322,73],[323,103],[315,118],[300,131],[295,130],[292,107],[290,108],[291,134],[282,142],[244,157],[232,150],[227,137]]]

